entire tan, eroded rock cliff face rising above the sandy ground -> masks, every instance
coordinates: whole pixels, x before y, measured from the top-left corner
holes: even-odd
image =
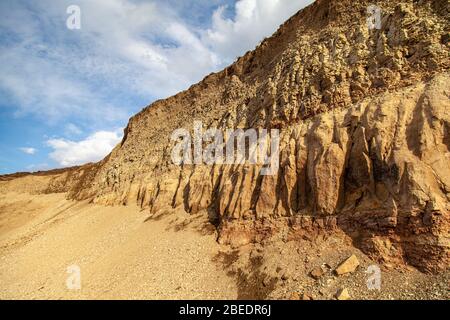
[[[369,30],[367,7],[382,9]],[[219,241],[341,228],[386,263],[450,262],[449,2],[319,0],[226,70],[134,116],[101,163],[50,189],[184,207]],[[280,169],[171,161],[175,129],[280,129]],[[55,187],[57,186],[57,187]]]

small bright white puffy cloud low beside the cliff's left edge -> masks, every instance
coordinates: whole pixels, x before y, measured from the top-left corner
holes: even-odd
[[[53,149],[50,158],[59,165],[68,167],[103,159],[121,139],[121,130],[98,131],[85,140],[50,139],[47,145]]]

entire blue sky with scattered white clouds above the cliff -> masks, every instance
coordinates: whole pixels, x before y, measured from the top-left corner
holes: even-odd
[[[311,2],[0,1],[0,174],[102,159],[130,116],[232,63]],[[80,29],[66,26],[71,5]]]

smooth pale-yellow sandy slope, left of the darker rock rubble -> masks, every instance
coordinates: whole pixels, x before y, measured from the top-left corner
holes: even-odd
[[[1,299],[234,299],[220,250],[201,216],[0,194]],[[66,287],[71,265],[79,291]]]

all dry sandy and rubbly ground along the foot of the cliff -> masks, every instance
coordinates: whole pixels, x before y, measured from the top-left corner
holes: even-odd
[[[449,273],[404,267],[382,269],[381,291],[368,290],[374,262],[345,235],[232,249],[206,216],[0,193],[0,299],[334,299],[341,288],[353,299],[450,299]],[[335,276],[351,254],[361,266]],[[72,265],[81,290],[66,286]],[[317,266],[325,274],[314,280]]]

